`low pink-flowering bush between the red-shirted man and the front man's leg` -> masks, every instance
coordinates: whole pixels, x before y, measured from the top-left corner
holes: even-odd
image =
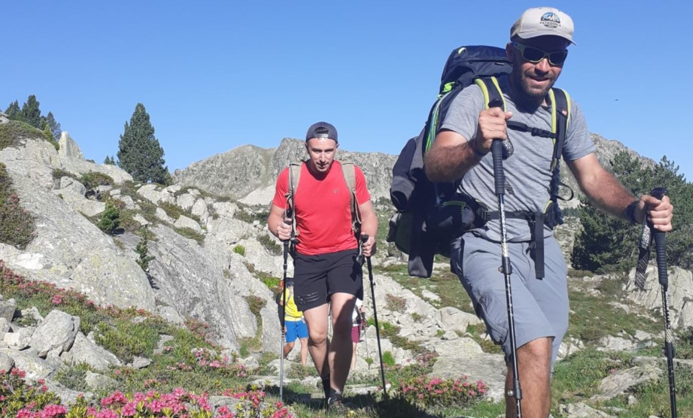
[[[486,393],[486,383],[460,379],[428,378],[421,375],[399,382],[398,394],[408,402],[423,407],[468,406]]]

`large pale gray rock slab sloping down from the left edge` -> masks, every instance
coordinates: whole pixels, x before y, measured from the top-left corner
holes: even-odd
[[[134,257],[120,251],[111,237],[51,192],[53,168],[80,167],[62,165],[55,148],[44,140],[2,149],[0,161],[36,225],[36,236],[26,250],[0,244],[0,258],[10,269],[82,291],[100,305],[154,308],[147,277]]]

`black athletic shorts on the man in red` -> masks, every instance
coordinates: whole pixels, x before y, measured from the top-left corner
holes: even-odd
[[[330,301],[333,293],[363,299],[363,273],[358,248],[320,255],[294,256],[294,301],[301,311]]]

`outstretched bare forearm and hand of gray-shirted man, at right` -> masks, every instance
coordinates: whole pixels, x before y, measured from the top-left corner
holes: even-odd
[[[602,167],[594,153],[575,161],[568,161],[568,167],[577,179],[581,190],[598,208],[621,219],[629,220],[626,209],[631,203],[637,202],[633,212],[636,221],[642,222],[645,215],[648,215],[655,229],[672,230],[674,208],[669,203],[669,197],[665,196],[659,200],[649,194],[643,194],[638,199]]]

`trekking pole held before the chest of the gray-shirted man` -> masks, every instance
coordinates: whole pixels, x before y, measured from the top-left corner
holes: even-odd
[[[493,103],[489,103],[489,107]],[[498,217],[500,219],[500,251],[501,265],[500,269],[505,276],[505,300],[508,307],[508,331],[510,338],[510,352],[513,357],[513,388],[508,390],[507,396],[515,398],[515,407],[517,417],[522,417],[520,409],[520,399],[522,399],[522,389],[520,388],[520,376],[518,376],[518,357],[517,345],[515,341],[515,316],[513,314],[513,294],[510,284],[510,257],[508,255],[508,243],[505,227],[505,202],[503,195],[505,194],[505,174],[503,173],[503,141],[494,139],[491,142],[491,154],[493,156],[493,183],[495,185],[495,195],[498,196]]]

